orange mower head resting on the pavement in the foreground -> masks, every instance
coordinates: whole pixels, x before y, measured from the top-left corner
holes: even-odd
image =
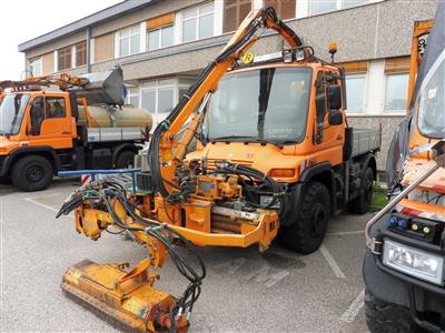
[[[70,266],[61,287],[123,325],[139,332],[170,331],[170,310],[176,300],[152,287],[152,280],[129,276],[128,264],[97,264],[83,260]],[[129,278],[129,279],[128,279]],[[176,320],[174,331],[187,332],[185,317]]]

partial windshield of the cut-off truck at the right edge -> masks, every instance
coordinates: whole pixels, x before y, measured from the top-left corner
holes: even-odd
[[[418,128],[429,138],[445,138],[445,57],[432,71],[419,97]]]

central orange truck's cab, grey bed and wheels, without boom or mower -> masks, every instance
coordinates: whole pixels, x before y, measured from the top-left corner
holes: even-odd
[[[339,68],[297,57],[260,56],[228,71],[208,103],[197,150],[187,158],[206,161],[210,170],[227,160],[278,181],[288,194],[280,211],[284,244],[310,253],[332,214],[347,206],[368,210],[380,139],[378,131],[347,125]],[[257,200],[267,205],[273,198],[257,193]]]

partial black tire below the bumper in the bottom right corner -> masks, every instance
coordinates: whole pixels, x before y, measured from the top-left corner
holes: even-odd
[[[408,309],[382,301],[368,290],[365,293],[365,316],[372,333],[418,332]]]

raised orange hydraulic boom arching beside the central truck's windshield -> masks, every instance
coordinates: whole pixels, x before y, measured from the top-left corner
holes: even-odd
[[[175,189],[175,170],[182,162],[187,145],[204,118],[205,103],[208,97],[226,71],[236,64],[243,53],[267,29],[277,31],[291,48],[303,47],[298,36],[277,17],[274,8],[268,7],[250,11],[221,53],[207,65],[178,105],[155,130],[149,151],[149,167],[156,190],[164,198],[169,196]],[[201,103],[201,107],[197,110],[199,103]],[[197,111],[195,112],[195,110]],[[187,125],[181,140],[176,142],[176,134],[190,117],[191,121]]]

